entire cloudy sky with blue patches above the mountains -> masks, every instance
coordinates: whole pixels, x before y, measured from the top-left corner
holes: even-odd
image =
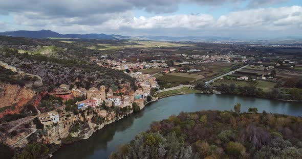
[[[302,36],[302,0],[0,0],[0,32]]]

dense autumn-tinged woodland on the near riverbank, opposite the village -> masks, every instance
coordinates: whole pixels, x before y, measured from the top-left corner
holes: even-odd
[[[301,158],[301,117],[252,112],[180,113],[153,123],[111,158]]]

